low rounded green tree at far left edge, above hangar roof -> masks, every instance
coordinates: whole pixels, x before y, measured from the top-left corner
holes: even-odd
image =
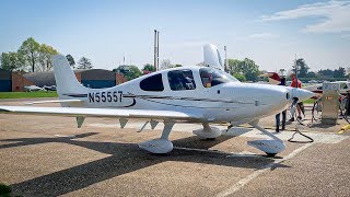
[[[19,53],[2,53],[1,54],[1,67],[4,70],[15,71],[21,70],[25,66],[23,56]]]

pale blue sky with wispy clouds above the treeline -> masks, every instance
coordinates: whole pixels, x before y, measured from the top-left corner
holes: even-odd
[[[192,66],[211,43],[228,58],[250,58],[260,70],[350,67],[350,1],[322,0],[0,0],[0,53],[34,37],[94,68],[160,62]]]

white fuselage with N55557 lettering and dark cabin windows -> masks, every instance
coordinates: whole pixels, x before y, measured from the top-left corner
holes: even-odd
[[[86,91],[60,97],[83,99],[83,107],[199,113],[209,123],[233,124],[279,113],[293,96],[291,88],[241,83],[222,71],[203,67],[162,70],[113,88]]]

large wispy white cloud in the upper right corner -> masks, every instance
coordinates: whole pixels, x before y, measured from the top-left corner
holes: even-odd
[[[303,31],[311,33],[350,32],[350,1],[328,1],[300,5],[293,10],[261,16],[262,21],[320,18],[320,22],[307,25]]]

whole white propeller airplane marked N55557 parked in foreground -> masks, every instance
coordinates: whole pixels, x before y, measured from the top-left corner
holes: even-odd
[[[210,50],[210,51],[208,51]],[[164,123],[159,139],[139,144],[152,153],[173,150],[168,136],[175,123],[201,123],[203,128],[194,130],[202,138],[217,138],[221,130],[209,126],[215,123],[240,125],[248,123],[270,139],[249,141],[268,155],[283,151],[281,139],[258,125],[260,118],[287,108],[292,97],[308,99],[312,92],[288,86],[241,83],[220,70],[217,47],[205,47],[205,55],[212,58],[209,67],[180,67],[153,72],[107,89],[89,89],[78,82],[65,56],[52,58],[57,92],[62,107],[0,106],[0,113],[58,115],[77,117],[81,127],[85,117],[119,118],[124,128],[131,118],[147,119],[151,128]],[[214,66],[212,63],[215,63]],[[34,102],[35,103],[47,103]]]

